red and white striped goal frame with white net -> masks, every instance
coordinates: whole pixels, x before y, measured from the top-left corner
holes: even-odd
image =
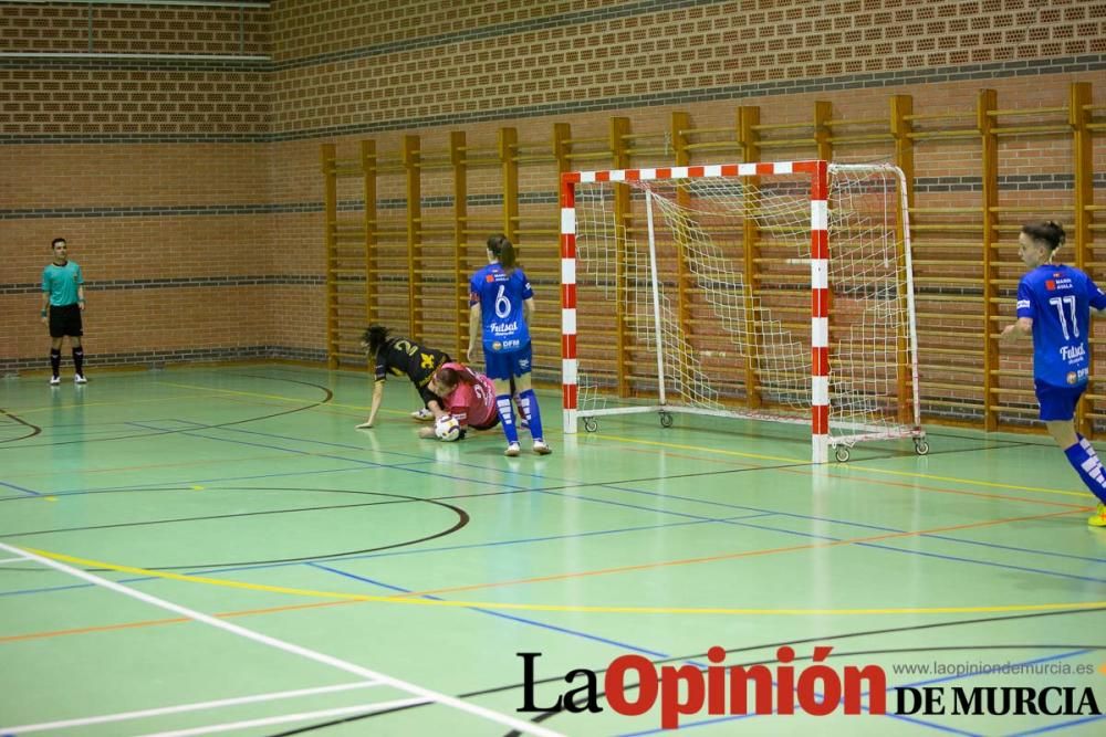
[[[564,431],[685,412],[808,424],[815,463],[927,453],[906,201],[890,165],[562,175]]]

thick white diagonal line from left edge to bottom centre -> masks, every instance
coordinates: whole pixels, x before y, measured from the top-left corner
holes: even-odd
[[[79,568],[73,568],[72,566],[66,566],[65,564],[59,562],[56,560],[51,560],[35,552],[30,552],[28,550],[22,550],[20,548],[14,548],[6,543],[0,543],[0,550],[13,555],[25,556],[30,560],[36,560],[43,566],[49,566],[55,570],[69,573],[70,576],[75,576],[76,578],[84,579],[96,586],[102,586],[104,588],[117,591],[133,599],[138,599],[139,601],[145,601],[148,604],[158,607],[160,609],[175,612],[187,617],[188,619],[195,620],[197,622],[202,622],[204,624],[209,624],[213,628],[223,630],[225,632],[230,632],[231,634],[237,634],[240,638],[246,638],[247,640],[252,640],[259,642],[263,645],[268,645],[275,650],[282,650],[285,653],[291,653],[292,655],[300,655],[301,657],[306,657],[307,660],[315,661],[316,663],[322,663],[324,665],[330,665],[331,667],[336,667],[340,671],[345,671],[346,673],[353,673],[354,675],[361,676],[368,681],[379,681],[386,685],[393,686],[400,691],[406,691],[407,693],[421,696],[425,699],[437,702],[444,706],[450,706],[455,709],[461,712],[468,712],[474,716],[489,719],[509,727],[513,727],[518,731],[526,735],[536,735],[538,737],[564,737],[561,733],[553,731],[552,729],[546,729],[540,725],[532,722],[525,722],[523,719],[517,719],[514,717],[508,716],[505,714],[500,714],[499,712],[484,708],[482,706],[477,706],[476,704],[469,704],[456,698],[453,696],[448,696],[446,694],[439,694],[436,691],[430,691],[429,688],[424,688],[422,686],[415,685],[414,683],[408,683],[399,678],[395,678],[390,675],[385,675],[383,673],[377,673],[367,667],[362,667],[354,663],[334,657],[333,655],[327,655],[325,653],[315,652],[314,650],[309,650],[301,645],[293,644],[291,642],[284,642],[283,640],[278,640],[276,638],[271,638],[268,634],[261,634],[260,632],[254,632],[253,630],[248,630],[240,624],[233,624],[231,622],[225,622],[215,617],[210,617],[202,612],[188,609],[187,607],[181,607],[180,604],[175,604],[171,601],[166,601],[164,599],[158,599],[157,597],[150,596],[143,591],[132,589],[129,587],[123,586],[122,583],[116,583],[106,578],[100,578],[98,576],[93,576],[87,571],[83,571]]]

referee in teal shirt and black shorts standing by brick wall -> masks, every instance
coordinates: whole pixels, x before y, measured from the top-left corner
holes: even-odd
[[[53,262],[42,270],[42,324],[50,327],[50,386],[61,383],[62,341],[69,336],[73,348],[73,381],[85,383],[84,348],[81,336],[84,325],[84,276],[75,261],[69,260],[69,245],[64,238],[55,238],[50,243],[54,252]]]

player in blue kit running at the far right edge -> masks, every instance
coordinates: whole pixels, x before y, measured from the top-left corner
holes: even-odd
[[[1002,339],[1033,336],[1033,383],[1041,419],[1098,497],[1087,524],[1106,527],[1106,471],[1073,422],[1091,376],[1091,310],[1106,309],[1106,294],[1078,269],[1052,262],[1064,238],[1064,229],[1052,221],[1022,227],[1018,254],[1030,271],[1018,284],[1018,322],[1002,330]]]

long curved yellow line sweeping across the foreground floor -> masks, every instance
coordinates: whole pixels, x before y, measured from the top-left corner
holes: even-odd
[[[18,546],[11,546],[18,547]],[[219,586],[231,589],[243,589],[249,591],[267,591],[270,593],[286,593],[296,597],[307,597],[315,599],[328,599],[332,601],[376,601],[389,604],[408,604],[417,607],[452,607],[470,609],[512,610],[512,611],[543,611],[543,612],[587,612],[595,614],[744,614],[744,615],[856,615],[856,614],[967,614],[967,613],[1001,613],[1001,612],[1032,612],[1032,611],[1077,611],[1083,609],[1097,609],[1106,607],[1106,601],[1074,601],[1044,604],[998,604],[977,607],[895,607],[895,608],[868,608],[868,609],[752,609],[752,608],[729,608],[729,607],[611,607],[611,606],[588,606],[588,604],[540,604],[540,603],[511,603],[502,601],[449,601],[441,599],[411,598],[413,594],[397,594],[389,597],[378,597],[361,593],[346,593],[342,591],[319,591],[314,589],[298,589],[283,586],[271,586],[268,583],[248,583],[244,581],[229,581],[219,578],[204,576],[185,576],[169,571],[155,571],[134,566],[119,566],[102,560],[79,558],[63,552],[40,550],[36,548],[20,548],[27,552],[32,552],[43,558],[59,560],[61,562],[74,564],[88,568],[101,568],[114,570],[122,573],[144,576],[152,578],[184,581],[186,583],[202,583],[207,586]],[[416,594],[417,596],[417,594]]]

